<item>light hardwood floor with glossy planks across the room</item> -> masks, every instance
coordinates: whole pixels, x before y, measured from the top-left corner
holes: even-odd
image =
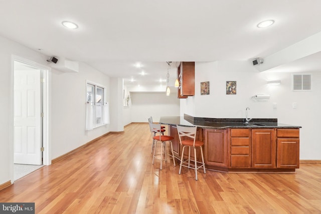
[[[148,124],[130,124],[0,191],[36,213],[321,213],[321,164],[290,174],[152,165]]]

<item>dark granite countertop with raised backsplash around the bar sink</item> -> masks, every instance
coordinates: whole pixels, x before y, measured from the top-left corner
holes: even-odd
[[[161,117],[159,123],[167,125],[198,126],[202,128],[302,128],[297,125],[278,123],[276,118],[253,118],[249,123],[244,123],[244,118],[204,118],[192,117],[185,114],[184,117]]]

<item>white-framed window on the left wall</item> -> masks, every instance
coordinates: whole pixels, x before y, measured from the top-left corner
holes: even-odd
[[[104,102],[105,88],[87,82],[86,130],[109,123],[108,103]]]

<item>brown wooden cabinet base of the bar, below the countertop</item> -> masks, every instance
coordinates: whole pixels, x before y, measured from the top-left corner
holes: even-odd
[[[182,146],[176,125],[169,125],[169,134],[174,137],[174,155],[181,159]],[[197,140],[204,142],[208,169],[290,172],[299,168],[299,129],[198,128]],[[201,160],[197,149],[197,159]],[[193,149],[191,156],[193,159]],[[187,157],[188,149],[184,152],[184,158]]]

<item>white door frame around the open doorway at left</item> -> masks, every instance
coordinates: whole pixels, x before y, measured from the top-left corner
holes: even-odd
[[[11,165],[11,182],[14,182],[14,62],[19,61],[21,63],[25,63],[34,67],[37,67],[43,70],[43,146],[45,150],[43,151],[43,165],[51,164],[51,132],[50,132],[50,121],[51,121],[51,87],[50,87],[50,79],[51,79],[51,68],[36,63],[34,61],[12,55],[11,57],[11,81],[10,81],[10,165]]]

